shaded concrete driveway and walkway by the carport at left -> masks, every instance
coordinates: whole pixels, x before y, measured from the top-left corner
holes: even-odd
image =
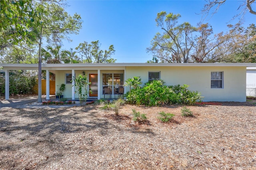
[[[54,95],[53,95],[54,96]],[[50,97],[51,99],[52,97]],[[46,99],[45,95],[42,95],[42,101]],[[54,98],[55,99],[55,98]],[[8,109],[8,108],[28,108],[28,109],[38,109],[38,108],[65,108],[65,107],[73,107],[80,106],[80,104],[72,104],[72,105],[25,105],[28,103],[33,103],[38,101],[38,96],[24,97],[21,99],[9,99],[9,100],[1,100],[0,101],[0,110]]]

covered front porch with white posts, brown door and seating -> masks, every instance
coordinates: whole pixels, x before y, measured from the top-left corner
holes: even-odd
[[[111,63],[90,64],[42,64],[42,70],[46,70],[46,100],[50,100],[50,73],[55,74],[55,89],[59,91],[60,85],[65,85],[62,92],[64,98],[78,100],[75,93],[74,77],[84,75],[91,82],[88,88],[92,93],[88,95],[89,100],[95,99],[117,99],[125,93],[123,87],[126,79],[124,66],[115,67]],[[1,64],[5,72],[5,99],[9,99],[9,71],[10,70],[38,70],[38,64]],[[51,97],[52,99],[52,97]]]

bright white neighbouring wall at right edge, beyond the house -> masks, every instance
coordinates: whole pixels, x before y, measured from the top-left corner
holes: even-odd
[[[246,96],[256,97],[256,67],[248,67],[246,70]]]

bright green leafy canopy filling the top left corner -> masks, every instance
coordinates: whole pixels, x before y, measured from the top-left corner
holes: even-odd
[[[32,0],[0,0],[0,51],[20,42],[29,43],[32,28],[41,24]]]

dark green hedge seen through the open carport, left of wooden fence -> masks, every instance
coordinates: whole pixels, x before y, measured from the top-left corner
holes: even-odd
[[[32,94],[34,86],[37,84],[36,75],[26,71],[10,71],[10,95]],[[0,93],[5,93],[5,77],[0,74]]]

